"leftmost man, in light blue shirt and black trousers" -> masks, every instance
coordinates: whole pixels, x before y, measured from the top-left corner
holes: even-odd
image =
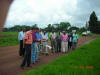
[[[20,42],[20,48],[19,48],[19,55],[24,56],[25,50],[24,50],[24,45],[23,45],[23,40],[25,36],[25,29],[21,29],[21,31],[18,34],[18,40]]]

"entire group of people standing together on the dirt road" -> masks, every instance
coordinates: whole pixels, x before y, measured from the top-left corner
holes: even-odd
[[[52,53],[63,52],[66,53],[68,50],[75,49],[78,42],[78,35],[75,33],[67,34],[66,32],[41,32],[39,28],[32,28],[25,32],[23,28],[19,32],[18,39],[20,42],[19,55],[24,56],[21,63],[21,68],[27,63],[27,67],[30,64],[37,62],[39,53],[43,53],[46,56],[49,55],[49,50]],[[50,40],[51,46],[48,45]]]

